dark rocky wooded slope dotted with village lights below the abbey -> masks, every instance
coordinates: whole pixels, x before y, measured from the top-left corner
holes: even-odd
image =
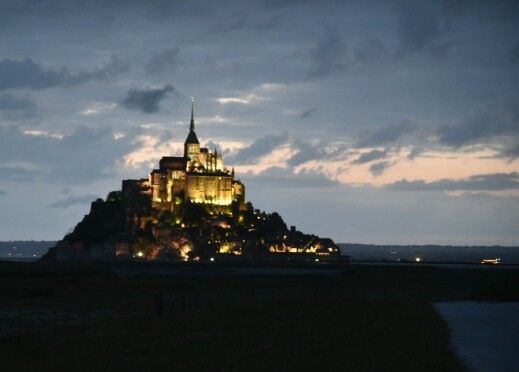
[[[179,201],[152,208],[146,195],[113,191],[42,260],[333,260],[331,239],[287,227],[278,213],[233,203],[229,209]]]

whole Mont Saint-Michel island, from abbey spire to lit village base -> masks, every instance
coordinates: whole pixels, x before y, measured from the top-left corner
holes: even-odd
[[[44,260],[334,260],[338,246],[290,228],[246,201],[245,185],[216,149],[200,146],[191,105],[182,156],[147,178],[122,181]]]

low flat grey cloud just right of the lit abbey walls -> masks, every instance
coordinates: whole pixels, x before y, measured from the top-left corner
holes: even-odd
[[[246,173],[240,175],[240,178],[254,188],[308,188],[338,185],[336,181],[316,171],[304,170],[293,173],[291,168],[281,167],[271,167],[256,175]]]

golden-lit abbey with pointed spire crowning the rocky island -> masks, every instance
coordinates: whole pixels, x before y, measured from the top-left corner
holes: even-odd
[[[173,211],[175,205],[189,200],[230,211],[233,201],[243,204],[245,200],[245,187],[234,178],[234,168],[229,170],[224,166],[223,157],[216,149],[211,151],[200,147],[195,133],[193,106],[183,156],[163,157],[159,168],[150,173],[147,182],[135,182],[139,185],[132,186],[143,192],[146,189],[147,195],[151,196],[151,207],[160,210]],[[131,186],[128,184],[126,187]],[[123,194],[124,188],[123,183]]]

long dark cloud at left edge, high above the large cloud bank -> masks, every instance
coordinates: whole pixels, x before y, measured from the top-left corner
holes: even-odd
[[[71,74],[65,67],[53,70],[44,67],[31,58],[0,60],[0,90],[6,89],[46,89],[56,86],[78,85],[93,80],[108,80],[126,72],[129,66],[117,57],[91,71]]]

